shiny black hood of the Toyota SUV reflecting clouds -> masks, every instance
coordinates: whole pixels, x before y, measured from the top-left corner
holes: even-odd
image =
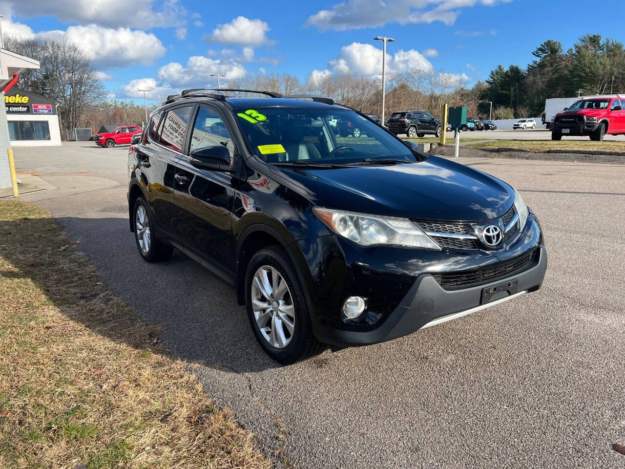
[[[273,167],[317,206],[413,219],[481,221],[506,213],[514,189],[488,174],[430,156],[426,161],[337,169]]]

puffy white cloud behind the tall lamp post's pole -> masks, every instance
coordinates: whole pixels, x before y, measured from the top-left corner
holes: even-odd
[[[337,72],[352,71],[356,74],[378,75],[382,71],[382,49],[371,44],[351,43],[342,47],[339,56],[329,61],[328,66]],[[394,55],[387,53],[386,66],[389,71],[432,69],[432,64],[414,49],[409,51],[400,49]]]

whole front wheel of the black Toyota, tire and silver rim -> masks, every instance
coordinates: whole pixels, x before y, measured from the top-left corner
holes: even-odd
[[[304,290],[281,246],[254,254],[247,265],[245,291],[252,331],[271,358],[291,365],[324,349],[312,334]]]

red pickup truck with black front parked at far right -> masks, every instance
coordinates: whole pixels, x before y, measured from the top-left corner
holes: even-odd
[[[602,96],[579,99],[571,107],[557,113],[551,126],[551,139],[562,136],[587,135],[591,140],[602,141],[604,135],[625,134],[625,98]]]

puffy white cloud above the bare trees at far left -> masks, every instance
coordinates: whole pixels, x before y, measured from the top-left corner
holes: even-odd
[[[96,24],[69,26],[66,31],[54,29],[34,33],[29,26],[1,20],[4,37],[67,39],[78,46],[95,66],[118,68],[131,64],[149,65],[163,56],[166,49],[153,33],[130,28],[103,28]]]

